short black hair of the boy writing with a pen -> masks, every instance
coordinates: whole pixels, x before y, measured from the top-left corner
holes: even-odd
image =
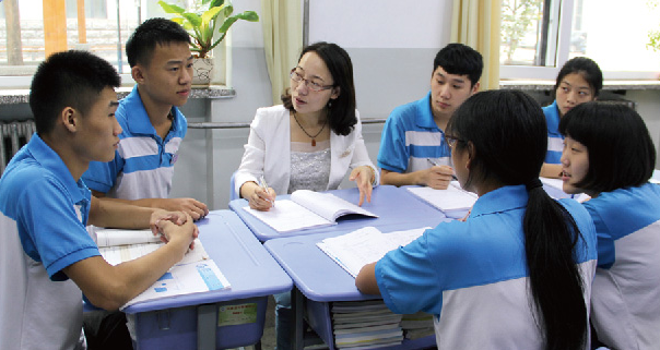
[[[481,79],[484,68],[481,53],[475,49],[458,43],[445,46],[433,60],[433,72],[441,67],[445,72],[457,75],[468,75],[471,86]]]

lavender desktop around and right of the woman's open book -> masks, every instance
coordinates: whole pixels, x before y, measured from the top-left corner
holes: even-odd
[[[328,193],[332,193],[340,198],[355,204],[360,200],[360,192],[357,191],[357,188],[333,190],[328,191]],[[278,196],[280,200],[288,200],[290,197],[291,195]],[[443,212],[434,208],[431,205],[427,205],[405,189],[391,185],[379,185],[374,188],[374,192],[372,193],[372,203],[365,202],[362,205],[363,208],[378,215],[378,218],[349,216],[346,218],[340,218],[338,220],[338,225],[334,226],[319,227],[293,232],[275,231],[270,226],[263,224],[263,221],[257,219],[255,216],[243,209],[247,205],[248,202],[246,200],[234,200],[229,202],[229,208],[232,208],[232,210],[234,210],[243,219],[243,221],[252,230],[255,236],[260,241],[322,232],[337,234],[347,233],[365,226],[373,226],[378,229],[385,228],[388,232],[391,232],[396,230],[409,229],[411,228],[411,222],[416,224],[423,221],[435,222],[437,225],[437,222],[440,222],[446,218]]]

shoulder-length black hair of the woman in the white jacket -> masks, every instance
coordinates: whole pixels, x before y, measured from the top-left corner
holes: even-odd
[[[298,57],[298,62],[307,52],[316,52],[323,60],[334,81],[333,86],[340,88],[339,97],[329,101],[328,124],[335,134],[345,136],[357,123],[351,57],[337,44],[319,41],[305,47]],[[282,95],[282,102],[286,109],[294,110],[288,88]]]

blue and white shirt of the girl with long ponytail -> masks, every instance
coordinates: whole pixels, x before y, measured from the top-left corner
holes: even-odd
[[[476,201],[467,221],[443,222],[386,254],[375,270],[385,303],[394,313],[434,314],[438,349],[543,349],[528,291],[527,202],[525,185],[491,191]],[[575,252],[588,309],[596,230],[579,203],[559,203],[581,232]]]

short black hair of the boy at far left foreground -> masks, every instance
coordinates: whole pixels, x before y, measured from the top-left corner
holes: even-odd
[[[66,107],[85,116],[104,88],[120,84],[115,68],[93,53],[70,50],[51,55],[39,64],[30,87],[37,133],[48,134]]]

